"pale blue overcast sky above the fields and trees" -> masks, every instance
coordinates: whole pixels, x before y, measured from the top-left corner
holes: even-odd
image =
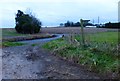
[[[117,22],[119,0],[1,0],[0,27],[15,27],[17,10],[33,15],[43,26],[57,26],[67,20],[77,22],[81,18],[94,23]]]

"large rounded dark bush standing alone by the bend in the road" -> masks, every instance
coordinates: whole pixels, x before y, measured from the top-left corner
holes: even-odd
[[[18,33],[34,34],[40,31],[41,22],[32,15],[24,14],[22,11],[18,10],[15,20],[15,29]]]

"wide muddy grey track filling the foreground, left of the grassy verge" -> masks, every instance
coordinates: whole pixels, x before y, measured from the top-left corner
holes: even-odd
[[[99,79],[96,74],[72,65],[39,46],[3,48],[3,79]]]

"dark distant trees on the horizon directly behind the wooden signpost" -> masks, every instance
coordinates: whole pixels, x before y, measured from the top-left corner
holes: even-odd
[[[80,27],[81,25],[80,25],[80,22],[76,22],[76,23],[74,23],[74,22],[72,22],[72,21],[67,21],[66,23],[60,23],[60,26],[62,26],[62,27]],[[92,23],[84,23],[83,24],[83,26],[85,27],[85,26],[94,26]]]

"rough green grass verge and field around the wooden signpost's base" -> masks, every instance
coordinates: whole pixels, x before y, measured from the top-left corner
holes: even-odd
[[[79,46],[71,45],[63,38],[48,42],[43,47],[75,63],[88,66],[91,71],[118,73],[120,70],[120,54],[118,54],[120,45],[117,32],[104,32],[86,37],[90,37],[90,39],[85,42],[85,49],[81,47],[81,44]],[[81,42],[79,35],[75,38]]]

